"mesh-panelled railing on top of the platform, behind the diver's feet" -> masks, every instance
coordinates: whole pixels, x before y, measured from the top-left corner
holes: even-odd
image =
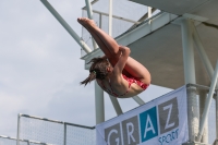
[[[137,25],[144,23],[144,21],[148,19],[152,22],[152,17],[160,12],[157,9],[137,4],[135,2],[126,0],[113,1],[112,24],[110,26],[109,5],[110,3],[108,0],[98,0],[96,3],[92,4],[92,19],[96,22],[97,26],[99,26],[104,32],[108,34],[110,34],[111,32],[113,38],[122,35],[129,29],[132,29],[132,27],[136,27]],[[121,5],[123,5],[123,9],[121,8]],[[87,7],[83,8],[82,16],[88,17]],[[93,46],[92,36],[84,27],[82,28],[82,39],[87,44],[87,46],[92,50],[95,49]],[[86,52],[82,49],[81,56],[83,57],[85,55]]]

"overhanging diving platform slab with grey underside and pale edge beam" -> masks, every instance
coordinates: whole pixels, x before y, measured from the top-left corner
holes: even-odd
[[[207,2],[202,0],[193,3],[171,0],[161,2],[158,2],[158,0],[132,1],[166,11],[116,37],[118,44],[131,48],[131,57],[149,70],[152,84],[173,89],[185,84],[182,29],[179,24],[179,21],[182,19],[189,19],[193,22],[206,55],[215,68],[218,59],[218,29],[205,25],[204,22],[207,24],[218,24],[217,0]],[[196,48],[194,43],[193,47]],[[93,57],[98,56],[102,56],[102,52],[97,49],[82,57],[85,60],[85,69],[88,69],[86,62]],[[194,49],[193,57],[195,61],[196,84],[209,86],[210,78],[202,63],[197,49]]]

